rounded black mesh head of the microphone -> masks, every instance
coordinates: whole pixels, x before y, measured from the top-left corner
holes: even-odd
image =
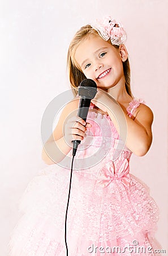
[[[80,82],[78,94],[82,98],[92,100],[97,93],[97,84],[92,79],[84,79]]]

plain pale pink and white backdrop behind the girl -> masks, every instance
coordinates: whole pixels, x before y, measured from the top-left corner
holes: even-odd
[[[92,18],[113,15],[124,24],[134,96],[154,113],[148,154],[132,156],[131,172],[150,188],[160,208],[157,240],[167,249],[167,6],[166,0],[1,1],[1,252],[19,218],[28,182],[41,160],[41,118],[69,88],[68,44]],[[167,249],[168,251],[168,249]]]

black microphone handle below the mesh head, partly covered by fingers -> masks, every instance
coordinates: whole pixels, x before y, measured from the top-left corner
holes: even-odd
[[[89,98],[80,98],[79,109],[78,109],[77,115],[80,118],[82,118],[85,122],[87,121],[87,115],[88,115],[90,105],[91,105],[91,99],[89,99]],[[75,139],[75,141],[72,141],[72,143],[73,143],[72,155],[73,156],[76,155],[76,150],[77,150],[77,147],[80,144],[80,142],[81,141],[79,139]]]

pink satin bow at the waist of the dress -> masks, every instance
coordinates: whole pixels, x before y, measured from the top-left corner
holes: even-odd
[[[131,182],[128,159],[124,159],[119,168],[115,168],[114,162],[110,161],[98,172],[97,182],[102,187],[107,187],[113,180],[121,180],[123,185],[129,186]]]

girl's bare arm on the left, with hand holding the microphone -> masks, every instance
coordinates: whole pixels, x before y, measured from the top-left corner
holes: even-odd
[[[63,109],[58,125],[42,149],[42,160],[46,164],[59,163],[72,148],[72,141],[84,139],[89,123],[77,116],[79,98],[69,102]]]

